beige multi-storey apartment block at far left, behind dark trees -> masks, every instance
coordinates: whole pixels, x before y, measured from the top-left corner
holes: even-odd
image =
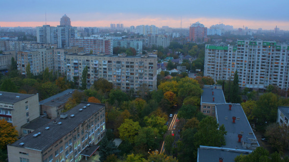
[[[17,53],[17,67],[21,74],[26,75],[26,67],[30,64],[30,72],[39,75],[47,67],[53,70],[53,49],[34,49]]]

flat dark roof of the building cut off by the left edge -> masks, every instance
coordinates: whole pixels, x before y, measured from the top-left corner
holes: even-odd
[[[13,103],[22,101],[34,95],[35,94],[22,94],[22,93],[0,91],[0,103],[13,104]]]

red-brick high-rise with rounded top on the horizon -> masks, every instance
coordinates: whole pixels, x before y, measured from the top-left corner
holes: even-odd
[[[190,26],[190,41],[207,42],[207,27],[199,22],[193,23]]]

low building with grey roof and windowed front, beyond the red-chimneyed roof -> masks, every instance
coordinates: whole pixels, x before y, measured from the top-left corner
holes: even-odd
[[[215,117],[215,105],[226,103],[221,85],[204,85],[201,96],[201,112]]]

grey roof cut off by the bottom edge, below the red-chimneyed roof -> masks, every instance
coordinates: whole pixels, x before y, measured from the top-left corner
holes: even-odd
[[[200,146],[198,148],[197,162],[219,162],[219,158],[222,158],[223,162],[234,162],[234,159],[241,154],[247,155],[248,152],[236,149]]]

